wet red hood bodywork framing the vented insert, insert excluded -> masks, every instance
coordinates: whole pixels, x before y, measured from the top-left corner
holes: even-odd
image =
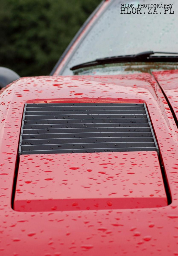
[[[112,209],[109,203],[108,209],[99,210],[13,210],[12,187],[15,170],[18,170],[18,142],[23,108],[27,101],[145,102],[161,151],[172,203],[164,207],[138,209]],[[0,92],[0,106],[0,255],[178,254],[178,129],[161,89],[150,74],[21,78]],[[149,158],[150,152],[145,154],[145,158]],[[30,168],[35,164],[37,166],[38,157],[30,155],[27,160]],[[54,163],[49,161],[48,168],[58,164],[56,157],[53,156]],[[76,161],[80,160],[79,156],[75,157]],[[103,153],[101,158],[96,158],[96,163],[103,163],[102,157]],[[71,159],[69,161],[72,162]],[[125,163],[129,162],[130,157],[126,156]],[[140,158],[137,162],[142,163]],[[27,168],[25,170],[23,167],[23,170],[28,172]],[[36,181],[39,170],[38,167],[34,169],[31,177],[23,173],[32,182]],[[21,170],[20,167],[19,175]],[[147,171],[146,168],[144,170]],[[131,179],[133,176],[129,177]],[[31,186],[23,178],[24,183],[27,183],[21,184],[22,191],[23,187],[26,189],[27,185]],[[138,184],[137,189],[142,186]],[[28,192],[30,190],[22,193]]]

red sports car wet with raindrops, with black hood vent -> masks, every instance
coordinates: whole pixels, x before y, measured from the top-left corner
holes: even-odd
[[[178,3],[126,2],[2,83],[0,256],[178,255]]]

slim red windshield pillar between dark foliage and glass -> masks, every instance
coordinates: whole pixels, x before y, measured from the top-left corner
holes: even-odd
[[[74,49],[77,47],[78,43],[82,40],[82,38],[86,35],[86,33],[89,31],[90,27],[93,25],[93,23],[96,21],[96,19],[99,17],[99,15],[105,10],[105,8],[108,6],[110,0],[105,0],[103,4],[101,5],[100,9],[96,12],[96,14],[93,16],[93,18],[89,21],[87,26],[84,28],[84,30],[80,33],[76,41],[73,43],[73,45],[70,47],[69,51],[67,52],[66,56],[63,58],[62,62],[57,67],[56,71],[54,72],[54,76],[58,75],[62,68],[64,67],[65,63],[68,61],[68,58],[73,53]]]

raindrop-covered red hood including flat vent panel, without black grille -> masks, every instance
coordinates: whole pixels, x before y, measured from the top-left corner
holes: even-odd
[[[159,152],[19,156],[26,103],[145,104]],[[150,74],[21,78],[0,120],[2,255],[178,254],[178,130]]]

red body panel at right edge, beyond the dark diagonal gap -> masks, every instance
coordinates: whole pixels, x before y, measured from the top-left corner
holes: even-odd
[[[152,72],[169,100],[178,120],[178,70]]]

